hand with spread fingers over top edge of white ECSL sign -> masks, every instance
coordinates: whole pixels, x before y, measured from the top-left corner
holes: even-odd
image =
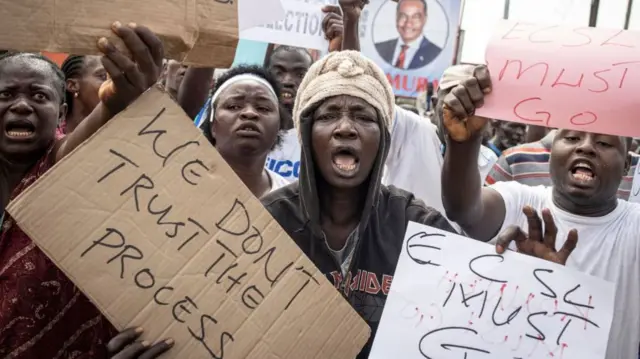
[[[556,251],[556,235],[558,228],[556,227],[551,212],[548,209],[542,211],[544,220],[544,235],[542,234],[542,222],[536,211],[526,206],[522,209],[527,222],[529,222],[529,235],[524,233],[518,226],[508,227],[504,232],[498,235],[496,243],[496,252],[504,253],[506,248],[512,241],[516,242],[518,252],[538,257],[550,262],[565,265],[571,252],[578,244],[578,231],[572,229],[566,242],[559,251]]]

